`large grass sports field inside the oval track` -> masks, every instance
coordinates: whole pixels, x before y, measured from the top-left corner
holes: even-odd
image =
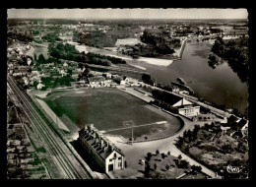
[[[44,100],[64,123],[76,124],[78,128],[83,128],[86,124],[94,124],[98,130],[107,131],[122,128],[123,122],[128,120],[133,120],[137,126],[160,121],[169,123],[168,125],[137,127],[135,137],[140,137],[154,132],[164,132],[166,127],[175,132],[180,125],[175,117],[168,116],[166,118],[160,115],[159,112],[149,109],[149,104],[141,99],[117,89],[103,88],[83,89],[79,92],[75,90],[53,92]],[[70,120],[67,120],[67,117]],[[128,131],[131,131],[131,129]],[[112,134],[116,134],[116,132],[113,131]],[[124,137],[130,137],[130,133],[127,133],[127,131],[124,131],[125,133],[119,132]]]

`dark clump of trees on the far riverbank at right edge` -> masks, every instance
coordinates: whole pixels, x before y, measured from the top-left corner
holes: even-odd
[[[242,82],[248,81],[248,38],[237,38],[224,41],[222,37],[217,37],[212,52],[227,60],[231,69],[237,73]],[[217,58],[210,56],[210,61]],[[218,63],[216,63],[218,65]]]

